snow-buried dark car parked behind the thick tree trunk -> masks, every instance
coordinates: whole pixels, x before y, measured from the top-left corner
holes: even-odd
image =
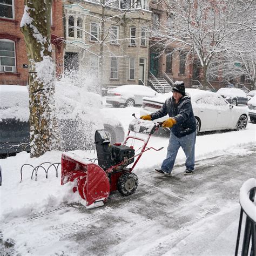
[[[71,83],[57,82],[55,102],[63,151],[93,148],[97,129],[105,129],[111,143],[124,140],[122,124],[101,112],[102,98],[98,94]],[[24,144],[29,143],[29,93],[26,86],[0,85],[0,134],[0,155],[17,153],[24,147],[29,149]]]

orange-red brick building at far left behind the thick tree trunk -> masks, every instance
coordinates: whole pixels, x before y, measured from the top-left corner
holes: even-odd
[[[28,82],[28,58],[20,22],[24,12],[24,0],[0,2],[0,84],[26,85]],[[52,4],[51,39],[52,56],[56,60],[56,72],[63,70],[62,1]]]

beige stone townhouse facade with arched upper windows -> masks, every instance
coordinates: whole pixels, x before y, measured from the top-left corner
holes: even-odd
[[[146,1],[105,8],[98,1],[66,1],[63,7],[66,70],[101,79],[103,87],[147,84],[152,13]]]

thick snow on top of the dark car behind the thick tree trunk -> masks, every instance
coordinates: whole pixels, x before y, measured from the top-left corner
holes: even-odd
[[[78,87],[69,80],[56,82],[55,102],[59,119],[74,119],[78,114],[86,119],[89,116],[97,118],[97,111],[102,106],[102,99],[87,87]],[[29,92],[26,86],[0,85],[0,120],[7,118],[19,119],[23,122],[29,120]],[[91,118],[90,118],[91,119]]]

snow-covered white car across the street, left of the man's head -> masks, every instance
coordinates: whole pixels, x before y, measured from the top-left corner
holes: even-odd
[[[112,104],[113,107],[141,106],[143,97],[157,96],[158,92],[144,85],[121,85],[107,91],[106,103]]]

